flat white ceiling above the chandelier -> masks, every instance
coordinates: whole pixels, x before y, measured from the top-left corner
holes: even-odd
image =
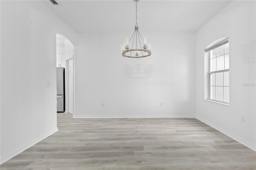
[[[131,32],[133,0],[56,0],[44,3],[77,32]],[[140,32],[196,32],[230,0],[140,0]]]

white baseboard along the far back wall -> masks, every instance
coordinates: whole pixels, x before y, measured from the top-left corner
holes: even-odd
[[[73,115],[73,118],[195,118],[194,115]]]

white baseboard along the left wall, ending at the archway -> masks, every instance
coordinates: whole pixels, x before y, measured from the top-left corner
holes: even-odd
[[[47,138],[48,136],[54,134],[55,132],[58,131],[58,128],[54,128],[40,136],[38,136],[37,138],[35,138],[34,140],[31,140],[25,144],[22,144],[21,146],[19,146],[18,148],[15,148],[14,150],[10,151],[8,154],[5,154],[3,156],[0,157],[0,164],[3,164],[4,162],[8,161],[9,159],[13,158],[14,156],[16,156],[17,154],[20,154],[21,152],[23,152],[24,150],[30,148],[31,146],[33,146],[34,144],[40,142],[41,140],[43,140],[44,138]]]

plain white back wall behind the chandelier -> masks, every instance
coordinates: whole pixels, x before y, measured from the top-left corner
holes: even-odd
[[[120,45],[132,31],[79,35],[74,117],[194,117],[195,34],[142,32],[152,55],[131,59]]]

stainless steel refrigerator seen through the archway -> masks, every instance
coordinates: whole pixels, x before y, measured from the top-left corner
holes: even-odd
[[[65,68],[57,67],[57,112],[65,112]]]

